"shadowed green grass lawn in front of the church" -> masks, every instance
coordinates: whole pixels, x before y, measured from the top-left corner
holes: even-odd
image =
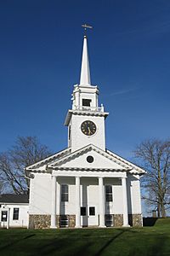
[[[81,230],[0,230],[0,256],[170,255],[170,218],[152,227]]]

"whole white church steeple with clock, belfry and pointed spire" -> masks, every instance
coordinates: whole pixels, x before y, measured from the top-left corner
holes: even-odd
[[[109,113],[104,111],[102,104],[99,106],[98,96],[98,86],[92,85],[90,81],[88,44],[85,35],[80,84],[74,85],[72,108],[65,118],[65,125],[68,126],[68,147],[72,152],[88,144],[105,150],[105,118]]]

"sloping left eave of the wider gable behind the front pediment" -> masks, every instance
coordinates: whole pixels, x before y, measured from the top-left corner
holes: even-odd
[[[51,164],[54,162],[54,160],[59,160],[60,158],[64,157],[66,154],[70,154],[70,153],[71,153],[71,148],[65,148],[55,154],[48,156],[47,158],[45,158],[41,161],[38,161],[37,163],[35,163],[31,166],[27,166],[26,171],[31,171],[33,169],[41,168],[43,166]]]

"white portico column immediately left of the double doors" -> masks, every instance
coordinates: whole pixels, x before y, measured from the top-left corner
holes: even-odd
[[[81,227],[80,221],[80,177],[76,177],[76,228]]]

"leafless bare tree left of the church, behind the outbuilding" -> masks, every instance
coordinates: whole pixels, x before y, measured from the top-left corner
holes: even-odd
[[[0,182],[6,191],[14,194],[28,193],[25,167],[51,154],[37,137],[18,137],[8,152],[0,154]]]

